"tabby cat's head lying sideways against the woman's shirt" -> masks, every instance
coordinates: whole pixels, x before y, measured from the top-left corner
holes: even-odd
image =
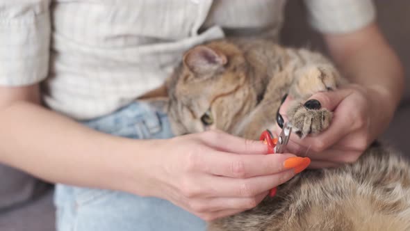
[[[256,104],[249,68],[243,51],[226,41],[188,50],[167,86],[174,133],[232,132]]]

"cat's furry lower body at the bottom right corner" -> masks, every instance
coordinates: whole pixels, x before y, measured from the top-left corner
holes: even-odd
[[[409,176],[407,163],[374,144],[355,164],[305,170],[274,198],[208,230],[410,230]]]

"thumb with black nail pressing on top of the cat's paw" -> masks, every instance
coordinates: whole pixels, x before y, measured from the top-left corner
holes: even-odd
[[[338,89],[327,92],[315,93],[309,99],[306,100],[306,104],[317,104],[320,103],[321,108],[328,109],[329,111],[334,111],[336,107],[350,94],[352,90],[350,89]],[[318,102],[314,102],[317,100]]]

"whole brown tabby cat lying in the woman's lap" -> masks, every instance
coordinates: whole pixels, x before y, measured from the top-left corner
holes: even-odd
[[[281,98],[301,137],[326,129],[331,112],[306,109],[313,93],[345,81],[324,56],[265,40],[219,40],[186,52],[167,83],[176,134],[209,128],[257,139],[276,123]],[[204,115],[207,115],[204,118]],[[211,121],[212,125],[204,125]],[[374,143],[354,164],[305,170],[274,198],[210,223],[209,230],[410,230],[409,164]]]

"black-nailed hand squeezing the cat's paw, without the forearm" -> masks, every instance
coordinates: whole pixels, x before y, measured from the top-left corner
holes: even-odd
[[[317,93],[310,99],[317,99],[322,107],[334,112],[329,128],[317,136],[304,139],[290,136],[287,151],[311,158],[310,168],[336,167],[356,161],[386,128],[395,109],[384,104],[388,102],[388,94],[381,89],[357,84]],[[289,100],[281,106],[282,116],[286,115]]]

